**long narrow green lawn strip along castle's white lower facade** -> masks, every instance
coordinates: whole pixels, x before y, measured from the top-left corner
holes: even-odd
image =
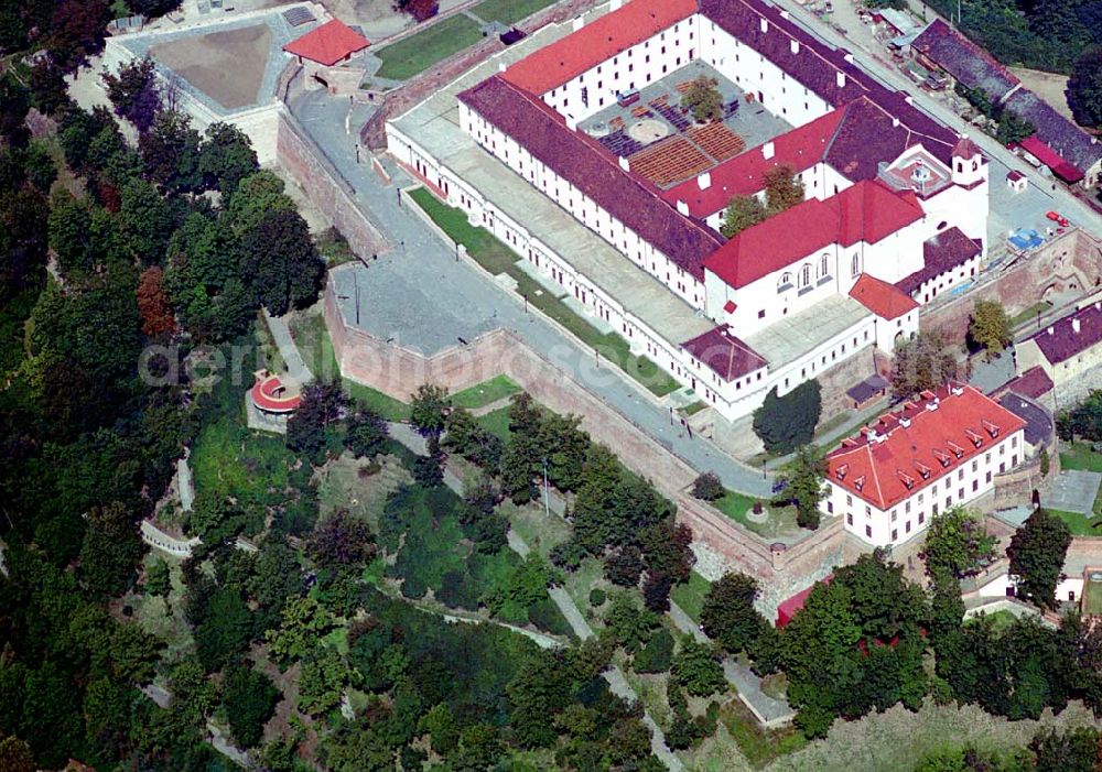
[[[418,206],[453,241],[467,248],[467,253],[488,272],[497,275],[506,273],[517,282],[517,292],[528,298],[528,303],[573,333],[582,342],[593,347],[601,358],[628,373],[657,396],[665,396],[680,388],[671,376],[647,357],[631,354],[627,341],[615,333],[604,334],[582,316],[575,314],[558,295],[525,273],[517,261],[516,252],[501,243],[485,228],[476,228],[467,221],[462,210],[441,203],[423,187],[409,194]]]

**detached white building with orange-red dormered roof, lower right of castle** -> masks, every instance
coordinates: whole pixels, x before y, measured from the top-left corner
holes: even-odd
[[[1025,457],[1025,421],[959,382],[882,415],[828,457],[821,508],[874,546],[907,541],[931,517],[991,491]]]

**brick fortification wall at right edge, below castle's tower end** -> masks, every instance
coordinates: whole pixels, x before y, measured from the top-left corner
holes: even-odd
[[[993,274],[970,292],[938,300],[919,312],[922,329],[938,329],[951,344],[963,344],[976,301],[1000,301],[1013,316],[1048,293],[1095,290],[1102,283],[1102,242],[1076,228],[1029,257]]]

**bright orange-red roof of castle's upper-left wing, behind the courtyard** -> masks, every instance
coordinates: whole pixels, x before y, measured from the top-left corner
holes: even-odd
[[[542,95],[695,13],[696,0],[631,0],[526,56],[501,77]]]

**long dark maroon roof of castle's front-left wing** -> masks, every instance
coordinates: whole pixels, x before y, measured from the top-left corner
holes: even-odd
[[[625,172],[619,160],[593,138],[571,131],[542,99],[497,75],[463,91],[458,99],[674,264],[703,279],[704,259],[723,238],[682,217],[658,196],[658,188]]]

